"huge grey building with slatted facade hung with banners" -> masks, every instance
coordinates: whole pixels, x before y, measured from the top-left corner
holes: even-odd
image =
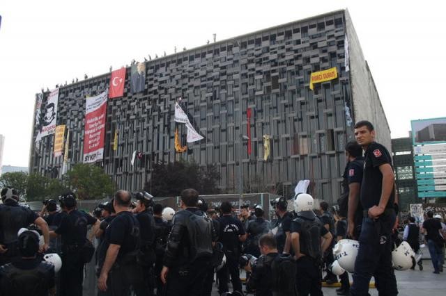
[[[338,78],[310,90],[312,72],[332,67]],[[289,197],[300,179],[309,179],[309,192],[332,202],[341,192],[353,122],[373,122],[377,140],[390,149],[390,129],[347,10],[148,60],[145,88],[137,94],[130,92],[130,67],[126,71],[124,97],[108,102],[105,158],[98,163],[120,188],[139,190],[153,163],[182,159],[217,165],[223,192],[241,192],[243,186],[244,192]],[[70,165],[82,161],[84,98],[107,90],[109,79],[107,73],[59,89],[57,124],[70,131]],[[188,143],[182,154],[174,144],[178,97],[205,137]],[[184,126],[179,132],[184,141]],[[60,169],[63,156],[52,154],[54,135],[36,145],[37,133],[35,126],[30,172]],[[263,136],[270,137],[266,160]],[[134,151],[141,158],[132,166]]]

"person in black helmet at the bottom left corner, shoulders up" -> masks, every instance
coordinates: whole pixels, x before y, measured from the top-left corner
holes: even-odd
[[[26,230],[17,242],[22,258],[0,268],[0,295],[44,296],[56,293],[54,265],[41,261],[36,256],[39,250],[39,235]]]

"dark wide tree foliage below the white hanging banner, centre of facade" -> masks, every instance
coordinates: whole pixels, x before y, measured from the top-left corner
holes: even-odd
[[[200,167],[197,163],[174,162],[153,165],[153,179],[144,190],[157,197],[178,196],[185,188],[195,188],[201,195],[220,193],[220,173],[215,165]]]

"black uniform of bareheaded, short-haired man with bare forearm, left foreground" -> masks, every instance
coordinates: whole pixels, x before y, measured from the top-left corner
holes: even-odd
[[[107,293],[110,295],[128,295],[130,286],[139,288],[142,285],[142,270],[137,263],[139,233],[139,222],[129,211],[116,214],[105,230],[100,257],[106,257],[109,245],[121,246],[107,278]]]

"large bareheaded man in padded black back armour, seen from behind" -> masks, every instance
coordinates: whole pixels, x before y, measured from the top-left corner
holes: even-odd
[[[217,233],[197,208],[198,195],[192,188],[181,192],[183,210],[174,216],[161,270],[167,296],[201,295],[206,279]]]

